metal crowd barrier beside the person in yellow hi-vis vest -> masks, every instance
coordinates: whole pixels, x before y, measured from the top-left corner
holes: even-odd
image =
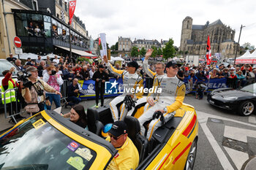
[[[10,102],[10,110],[11,110],[11,113],[13,113],[13,115],[7,115],[7,104],[6,104],[6,93],[9,92],[9,91],[13,91],[15,90],[15,98],[16,98],[16,101],[13,101],[15,102],[15,111],[12,110],[12,102]],[[20,115],[20,113],[23,113],[23,112],[20,112],[21,109],[22,109],[22,104],[20,103],[20,101],[18,100],[18,96],[17,96],[17,91],[18,91],[18,88],[11,88],[11,89],[7,89],[4,91],[4,117],[5,118],[9,118],[9,117],[12,117],[12,119],[15,121],[15,123],[17,123],[17,120],[15,119],[15,115]],[[20,108],[18,107],[18,104],[20,104]],[[19,111],[18,111],[19,109]],[[14,114],[15,112],[15,114]]]

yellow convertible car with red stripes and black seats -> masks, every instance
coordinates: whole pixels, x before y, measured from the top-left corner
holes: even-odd
[[[0,169],[106,169],[117,150],[102,137],[109,108],[88,109],[89,130],[53,111],[21,120],[0,136]],[[137,169],[192,169],[198,140],[195,109],[184,104],[148,141],[138,119],[127,116],[128,135],[140,153]]]

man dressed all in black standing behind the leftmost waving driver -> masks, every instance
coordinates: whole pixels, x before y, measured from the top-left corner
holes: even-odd
[[[99,104],[99,93],[100,93],[100,101],[101,107],[104,106],[104,93],[105,93],[105,82],[108,81],[108,74],[105,72],[105,67],[100,64],[97,72],[94,73],[92,80],[95,81],[95,100],[96,100],[96,108],[98,108]]]

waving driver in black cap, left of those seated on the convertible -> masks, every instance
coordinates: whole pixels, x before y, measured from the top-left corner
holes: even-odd
[[[121,108],[120,117],[118,117],[117,105],[124,102],[124,98],[126,98],[126,96],[131,97],[132,101],[137,101],[143,95],[143,91],[140,91],[140,90],[138,90],[138,92],[136,91],[138,88],[139,89],[143,88],[143,78],[136,73],[136,70],[138,69],[139,65],[136,61],[131,61],[127,64],[127,71],[117,70],[108,62],[108,58],[106,55],[104,56],[103,59],[106,63],[106,66],[110,70],[110,72],[112,72],[113,74],[116,74],[119,77],[122,77],[123,79],[124,93],[121,96],[117,96],[116,98],[113,99],[113,101],[110,102],[110,111],[114,121],[124,120],[124,117],[126,115],[133,114],[134,108],[139,103],[137,102],[135,107],[132,107],[132,109],[130,110],[128,110],[125,104],[123,104],[122,105],[123,107]],[[134,93],[131,92],[132,89],[134,90]]]

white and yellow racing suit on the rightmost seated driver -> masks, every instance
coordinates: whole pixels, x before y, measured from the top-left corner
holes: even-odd
[[[162,82],[159,85],[159,88],[162,89],[162,93],[158,93],[156,96],[156,103],[153,107],[149,108],[143,115],[139,117],[140,122],[140,131],[142,135],[145,134],[144,123],[150,121],[154,112],[158,109],[167,109],[167,112],[164,113],[165,122],[170,120],[173,115],[175,115],[176,109],[182,106],[184,101],[184,96],[186,93],[186,85],[181,80],[175,77],[167,77],[164,75],[162,77]],[[160,119],[154,119],[148,126],[148,133],[146,137],[151,139],[153,132],[162,125]]]

